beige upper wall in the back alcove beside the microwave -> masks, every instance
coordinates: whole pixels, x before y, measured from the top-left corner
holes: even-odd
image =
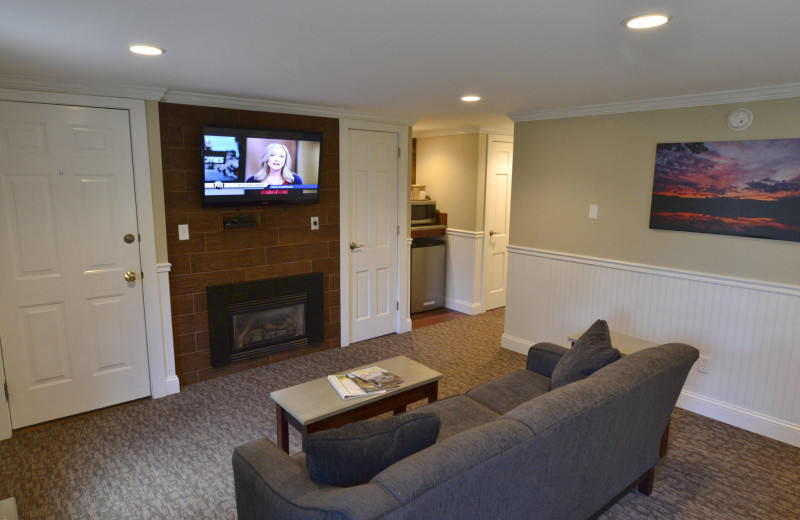
[[[447,213],[449,228],[483,229],[485,141],[477,133],[417,138],[417,184],[424,184],[437,209]]]

